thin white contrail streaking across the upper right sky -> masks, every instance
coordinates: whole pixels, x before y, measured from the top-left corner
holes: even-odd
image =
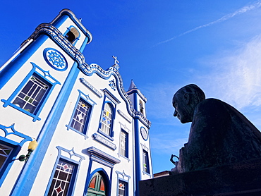
[[[257,1],[255,4],[252,4],[252,5],[250,5],[250,6],[244,6],[243,8],[240,8],[240,9],[238,9],[237,11],[235,11],[235,12],[233,12],[233,13],[229,13],[229,14],[227,14],[227,15],[225,15],[225,16],[223,16],[223,17],[217,19],[217,20],[214,20],[214,21],[211,22],[211,23],[207,23],[207,24],[205,24],[205,25],[201,25],[201,26],[195,27],[195,28],[193,28],[193,29],[191,29],[191,30],[188,30],[188,31],[186,31],[186,32],[181,33],[180,35],[177,35],[177,36],[175,36],[175,37],[171,37],[170,39],[166,39],[166,40],[163,41],[163,42],[159,42],[159,43],[157,43],[156,45],[154,45],[154,47],[157,46],[157,45],[159,45],[159,44],[163,44],[163,43],[166,43],[166,42],[170,42],[171,40],[176,39],[177,37],[181,37],[181,36],[183,36],[183,35],[186,35],[186,34],[188,34],[189,32],[193,32],[193,31],[195,31],[195,30],[198,30],[198,29],[201,29],[201,28],[204,28],[204,27],[208,27],[208,26],[214,25],[214,24],[216,24],[216,23],[220,23],[220,22],[222,22],[222,21],[224,21],[224,20],[229,20],[230,18],[233,18],[234,16],[237,16],[237,15],[239,15],[239,14],[242,14],[242,13],[245,13],[245,12],[247,12],[247,11],[253,10],[253,9],[255,9],[255,8],[259,8],[260,6],[261,6],[261,2],[260,2],[260,1]]]

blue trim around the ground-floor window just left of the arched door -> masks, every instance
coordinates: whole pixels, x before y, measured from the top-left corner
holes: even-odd
[[[56,148],[58,149],[59,153],[58,153],[58,156],[56,158],[56,162],[54,164],[54,169],[51,172],[51,177],[49,179],[49,183],[47,185],[47,189],[45,190],[44,196],[47,196],[47,194],[49,192],[49,189],[51,187],[51,182],[54,178],[54,173],[56,171],[56,166],[59,163],[59,160],[66,161],[69,164],[73,164],[75,166],[75,168],[73,169],[73,175],[71,177],[71,182],[70,182],[70,185],[69,185],[69,188],[68,188],[68,193],[67,193],[67,195],[73,195],[74,190],[75,190],[75,184],[76,184],[76,181],[77,181],[77,178],[78,178],[80,163],[83,159],[85,159],[85,157],[81,156],[80,154],[76,154],[73,149],[68,150],[68,149],[65,149],[65,148],[59,147],[59,146],[56,147]],[[70,158],[61,155],[61,151],[67,152],[69,154]],[[75,160],[71,159],[71,157],[73,157],[73,156],[80,158],[80,161],[75,161]]]

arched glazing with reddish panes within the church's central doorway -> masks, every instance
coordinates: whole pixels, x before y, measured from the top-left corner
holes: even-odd
[[[92,176],[92,180],[90,180],[90,184],[88,186],[87,195],[93,194],[95,196],[106,195],[104,178],[98,172]]]

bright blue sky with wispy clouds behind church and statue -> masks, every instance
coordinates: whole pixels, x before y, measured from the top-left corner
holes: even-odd
[[[195,83],[235,106],[261,128],[261,1],[4,1],[0,64],[40,23],[69,8],[90,30],[83,54],[104,69],[120,61],[126,90],[133,79],[147,97],[154,173],[188,140],[190,123],[173,117],[171,99]]]

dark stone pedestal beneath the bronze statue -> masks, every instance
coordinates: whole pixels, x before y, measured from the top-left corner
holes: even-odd
[[[140,181],[140,196],[261,195],[261,159]]]

